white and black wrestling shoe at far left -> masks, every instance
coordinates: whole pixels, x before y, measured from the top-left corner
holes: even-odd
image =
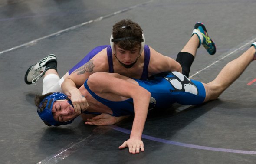
[[[30,66],[30,68],[26,71],[25,74],[25,82],[26,84],[34,84],[36,85],[36,82],[44,75],[46,70],[46,64],[49,62],[56,62],[57,63],[57,57],[53,54],[50,54],[37,62],[36,64],[33,64]]]

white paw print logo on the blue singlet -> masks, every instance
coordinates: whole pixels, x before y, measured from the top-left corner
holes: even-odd
[[[196,85],[194,85],[190,79],[188,79],[186,76],[181,74],[180,72],[172,72],[174,74],[174,77],[165,77],[166,80],[168,80],[171,85],[174,87],[174,91],[184,91],[189,92],[194,95],[198,94],[198,90]]]

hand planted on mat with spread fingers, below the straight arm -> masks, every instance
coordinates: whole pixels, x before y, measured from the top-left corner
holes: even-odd
[[[125,141],[121,146],[119,146],[119,149],[123,149],[126,147],[129,148],[129,153],[132,154],[139,153],[140,149],[141,151],[144,151],[144,144],[141,141],[141,138],[130,138]]]

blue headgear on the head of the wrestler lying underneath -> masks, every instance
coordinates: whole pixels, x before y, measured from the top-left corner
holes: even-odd
[[[40,108],[42,107],[43,102],[45,102],[46,100],[48,100],[46,107],[44,108],[44,110],[42,112],[40,112]],[[75,118],[73,118],[70,121],[66,121],[66,122],[58,122],[53,118],[52,108],[53,108],[53,103],[56,100],[68,100],[69,104],[72,105],[71,100],[64,93],[55,92],[49,96],[46,96],[46,98],[44,98],[43,101],[40,103],[39,107],[37,108],[37,113],[38,113],[39,117],[44,122],[47,122],[48,124],[54,125],[54,126],[70,124],[72,121],[74,121]]]

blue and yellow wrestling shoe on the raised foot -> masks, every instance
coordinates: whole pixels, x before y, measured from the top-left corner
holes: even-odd
[[[207,30],[202,22],[197,22],[194,26],[192,35],[197,34],[199,38],[199,46],[202,44],[210,55],[216,52],[216,46],[213,40],[208,36]]]

